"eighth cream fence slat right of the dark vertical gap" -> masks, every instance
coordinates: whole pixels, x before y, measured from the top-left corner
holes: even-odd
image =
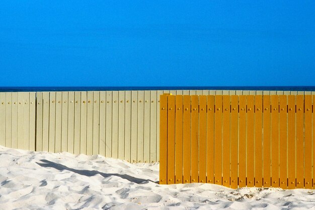
[[[87,92],[81,92],[80,153],[87,154]]]

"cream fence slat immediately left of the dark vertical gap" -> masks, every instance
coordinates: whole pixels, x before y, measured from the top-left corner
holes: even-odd
[[[30,105],[30,126],[29,126],[29,150],[30,151],[36,151],[36,139],[35,139],[35,132],[36,132],[36,122],[35,122],[35,116],[36,116],[36,110],[35,110],[35,105],[36,103],[36,93],[35,92],[30,92],[30,99],[29,99],[29,105]]]

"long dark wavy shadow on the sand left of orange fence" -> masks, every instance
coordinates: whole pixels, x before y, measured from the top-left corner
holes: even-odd
[[[83,175],[83,176],[94,176],[96,174],[100,174],[101,176],[103,177],[109,177],[109,176],[118,176],[122,179],[127,179],[128,181],[130,182],[134,182],[134,183],[137,183],[137,184],[145,184],[147,182],[154,182],[150,179],[140,179],[140,178],[136,178],[136,177],[133,177],[133,176],[129,176],[127,174],[107,174],[107,173],[102,173],[102,172],[99,172],[99,171],[89,171],[89,170],[76,170],[76,169],[73,169],[73,168],[69,168],[69,167],[66,167],[64,165],[61,165],[59,163],[54,163],[54,162],[51,162],[51,161],[48,161],[48,160],[40,160],[42,161],[43,163],[37,163],[38,165],[40,165],[41,167],[49,167],[49,168],[55,168],[59,171],[63,171],[63,170],[67,170],[67,171],[72,171],[73,173],[77,173],[77,174],[80,174],[80,175]],[[157,183],[159,184],[159,181],[156,181],[154,183]]]

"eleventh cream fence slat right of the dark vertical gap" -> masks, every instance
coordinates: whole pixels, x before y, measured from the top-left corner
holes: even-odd
[[[105,156],[106,148],[106,92],[100,92],[100,142],[99,151],[100,155]]]

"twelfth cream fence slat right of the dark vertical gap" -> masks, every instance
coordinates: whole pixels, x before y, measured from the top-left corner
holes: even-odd
[[[112,91],[106,91],[105,156],[112,157]]]

